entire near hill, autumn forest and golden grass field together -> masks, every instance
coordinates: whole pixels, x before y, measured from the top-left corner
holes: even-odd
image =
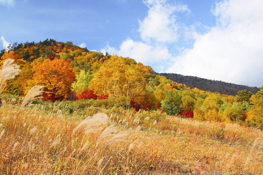
[[[263,174],[263,87],[192,89],[72,42],[10,48],[0,174]]]

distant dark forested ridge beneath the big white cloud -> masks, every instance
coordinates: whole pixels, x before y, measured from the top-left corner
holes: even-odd
[[[260,90],[260,88],[257,87],[237,85],[217,80],[209,80],[205,78],[199,78],[196,76],[187,76],[174,73],[159,73],[159,75],[165,76],[167,79],[170,79],[172,81],[186,84],[191,88],[196,87],[205,91],[207,90],[211,92],[219,92],[220,94],[227,94],[233,96],[237,95],[237,93],[240,90],[244,89],[251,91],[253,94],[257,93]]]

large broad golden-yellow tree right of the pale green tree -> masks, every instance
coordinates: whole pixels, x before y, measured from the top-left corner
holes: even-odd
[[[117,55],[102,64],[94,74],[89,88],[98,96],[112,94],[117,98],[120,94],[129,97],[143,107],[150,103],[149,99],[153,99],[153,93],[147,91],[146,81],[141,74]]]

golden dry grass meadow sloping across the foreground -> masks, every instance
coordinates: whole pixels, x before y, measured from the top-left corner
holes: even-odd
[[[2,96],[0,174],[263,174],[260,129],[24,100]]]

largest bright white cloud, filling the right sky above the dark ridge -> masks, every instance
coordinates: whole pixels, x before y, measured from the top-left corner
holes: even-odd
[[[217,26],[195,35],[166,72],[263,86],[263,1],[221,1],[212,11]]]

